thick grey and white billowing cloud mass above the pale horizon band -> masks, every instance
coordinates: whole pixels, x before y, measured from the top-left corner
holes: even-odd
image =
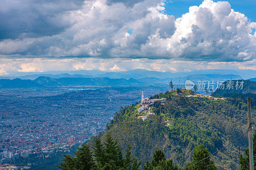
[[[0,56],[214,62],[256,58],[256,23],[228,2],[205,0],[177,19],[164,14],[161,0],[129,2],[6,0],[0,7]]]

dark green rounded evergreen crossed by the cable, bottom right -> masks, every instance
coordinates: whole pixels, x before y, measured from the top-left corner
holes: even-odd
[[[194,149],[192,158],[192,162],[188,162],[186,164],[186,167],[193,165],[194,163],[206,158],[209,156],[209,151],[207,148],[204,148],[203,144],[201,143]],[[188,170],[217,170],[218,168],[214,165],[214,162],[208,157],[207,159],[204,159],[203,161],[196,163],[193,166],[190,166],[187,168]]]

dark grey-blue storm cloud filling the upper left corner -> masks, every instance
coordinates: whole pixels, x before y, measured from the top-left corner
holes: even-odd
[[[77,10],[83,0],[2,0],[0,40],[51,36],[72,26],[63,14]]]

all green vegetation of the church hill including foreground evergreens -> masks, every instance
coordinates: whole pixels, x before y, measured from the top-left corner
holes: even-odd
[[[227,97],[224,100],[191,97],[194,94],[196,93],[193,91],[180,89],[179,93],[167,91],[151,96],[150,99],[166,100],[164,105],[156,101],[150,108],[155,114],[147,115],[144,121],[137,118],[139,115],[146,115],[138,113],[140,104],[121,107],[104,132],[92,137],[88,146],[83,145],[78,151],[66,155],[59,168],[68,167],[66,169],[69,170],[71,167],[79,169],[86,166],[91,170],[133,167],[144,167],[147,170],[176,170],[178,166],[189,166],[207,157],[241,136],[244,129],[247,129],[246,98],[252,98],[252,108],[255,109],[255,94],[222,94]],[[255,138],[254,135],[256,150]],[[214,154],[212,160],[207,158],[188,169],[239,169],[240,166],[241,169],[246,169],[247,141],[246,136],[241,137]],[[49,157],[31,155],[28,158],[21,158],[21,161],[15,164],[24,166],[33,163],[33,169],[56,169],[55,164],[62,158],[60,153],[64,152],[56,152]],[[54,157],[57,160],[53,159]],[[82,164],[83,161],[87,163]]]

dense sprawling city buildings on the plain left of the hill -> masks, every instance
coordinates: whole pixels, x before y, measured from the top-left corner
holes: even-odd
[[[160,92],[143,89],[148,95]],[[1,163],[86,142],[105,129],[120,107],[140,102],[141,92],[138,87],[1,91]]]

